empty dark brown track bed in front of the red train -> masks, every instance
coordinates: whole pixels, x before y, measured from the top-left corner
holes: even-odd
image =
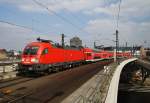
[[[42,76],[32,82],[14,85],[14,94],[6,97],[12,98],[8,100],[9,103],[59,103],[110,62],[104,60],[100,63],[82,65],[72,70]]]

